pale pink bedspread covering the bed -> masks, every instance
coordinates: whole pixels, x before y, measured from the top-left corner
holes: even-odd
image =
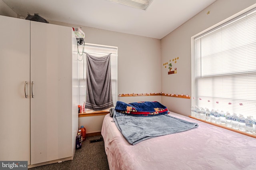
[[[110,170],[256,170],[256,138],[170,114],[199,127],[131,145],[106,115],[101,133]]]

